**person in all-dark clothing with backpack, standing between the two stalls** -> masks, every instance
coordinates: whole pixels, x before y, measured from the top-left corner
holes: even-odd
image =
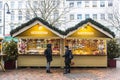
[[[72,51],[69,50],[68,46],[65,46],[65,54],[63,55],[65,57],[65,67],[64,67],[64,74],[70,73],[70,64],[71,60],[73,59]]]

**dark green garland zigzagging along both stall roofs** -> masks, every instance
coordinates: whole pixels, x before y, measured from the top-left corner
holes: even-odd
[[[40,21],[41,23],[43,23],[44,25],[46,25],[46,26],[49,27],[50,29],[52,29],[52,30],[60,33],[61,35],[67,35],[69,32],[74,31],[74,30],[78,29],[79,27],[81,27],[82,25],[90,22],[90,23],[94,24],[95,26],[98,26],[100,29],[108,32],[108,33],[111,34],[113,37],[115,37],[114,32],[112,32],[110,29],[106,28],[106,27],[103,26],[102,24],[100,24],[100,23],[92,20],[91,18],[88,18],[88,19],[86,19],[86,20],[84,20],[84,21],[81,21],[80,23],[78,23],[78,24],[75,25],[74,27],[68,28],[66,31],[62,31],[62,30],[60,30],[60,29],[52,26],[51,24],[49,24],[48,22],[46,22],[45,20],[43,20],[43,19],[41,19],[41,18],[39,18],[39,17],[35,17],[35,18],[33,18],[32,20],[28,21],[27,23],[24,23],[24,24],[22,24],[21,26],[18,26],[16,29],[11,30],[11,32],[10,32],[11,36],[12,36],[14,33],[18,32],[20,29],[22,29],[22,28],[24,28],[24,27],[26,27],[26,26],[29,26],[30,24],[34,23],[36,20]]]

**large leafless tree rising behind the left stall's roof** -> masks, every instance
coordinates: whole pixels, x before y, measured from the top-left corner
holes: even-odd
[[[64,0],[28,0],[28,10],[49,24],[56,26],[64,23],[64,15],[69,13],[69,7],[64,6]]]

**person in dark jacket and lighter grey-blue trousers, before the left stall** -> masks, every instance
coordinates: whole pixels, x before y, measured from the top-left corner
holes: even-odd
[[[52,48],[51,48],[51,44],[47,44],[47,49],[44,51],[44,55],[45,55],[46,61],[47,61],[46,73],[51,73],[51,71],[50,71],[50,63],[52,61]]]

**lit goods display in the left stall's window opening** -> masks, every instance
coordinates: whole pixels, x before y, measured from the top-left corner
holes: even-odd
[[[60,54],[59,39],[21,39],[18,43],[21,54],[44,54],[47,44],[52,44],[53,54]]]

